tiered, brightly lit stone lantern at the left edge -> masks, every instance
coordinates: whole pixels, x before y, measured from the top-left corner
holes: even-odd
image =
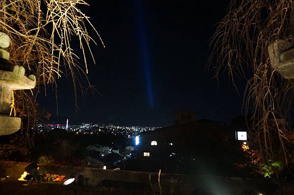
[[[21,118],[10,116],[13,90],[31,89],[36,86],[34,75],[25,76],[25,68],[11,65],[9,53],[4,50],[10,44],[9,37],[0,32],[0,135],[8,135],[21,128]]]

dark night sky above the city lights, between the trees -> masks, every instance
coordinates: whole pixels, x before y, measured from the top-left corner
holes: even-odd
[[[227,74],[218,86],[211,80],[213,72],[204,72],[211,51],[208,40],[228,0],[89,2],[86,13],[106,45],[93,45],[97,63],[89,65],[89,79],[100,95],[88,93],[85,103],[79,97],[76,114],[71,81],[60,79],[58,117],[54,92],[39,98],[52,121],[167,126],[177,110],[224,122],[241,114],[243,96]],[[245,83],[237,84],[243,94]]]

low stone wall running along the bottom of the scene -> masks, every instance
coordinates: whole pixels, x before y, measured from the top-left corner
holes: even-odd
[[[29,163],[0,161],[0,176],[9,175],[17,179],[24,173]],[[294,183],[277,183],[270,180],[257,180],[238,177],[217,177],[185,174],[162,173],[160,186],[158,173],[101,170],[88,167],[41,165],[40,173],[65,174],[67,178],[79,178],[85,186],[95,187],[102,180],[121,181],[150,186],[159,193],[169,195],[197,195],[206,191],[212,195],[241,195],[245,192],[261,193],[263,195],[293,195]],[[150,175],[150,181],[149,181]],[[282,194],[283,192],[283,194]],[[208,194],[210,195],[210,194]]]

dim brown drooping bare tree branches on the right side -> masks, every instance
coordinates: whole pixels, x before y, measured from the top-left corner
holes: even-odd
[[[294,35],[293,0],[232,0],[211,39],[209,67],[245,79],[245,108],[262,159],[293,163],[294,82],[270,65],[268,45]]]

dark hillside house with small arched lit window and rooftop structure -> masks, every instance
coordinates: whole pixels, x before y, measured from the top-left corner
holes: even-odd
[[[187,115],[186,112],[182,117],[184,121],[180,121],[181,115],[177,116],[173,126],[141,133],[137,156],[143,159],[161,159],[197,153],[199,149],[211,150],[212,145],[217,147],[220,140],[224,139],[223,125],[220,122],[207,119],[195,121],[194,115]]]

